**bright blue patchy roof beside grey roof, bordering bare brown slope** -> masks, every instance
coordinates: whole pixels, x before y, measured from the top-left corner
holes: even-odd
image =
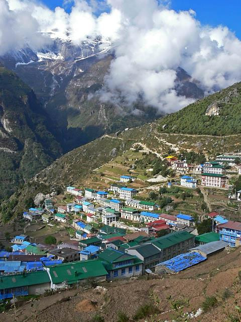
[[[191,252],[178,255],[171,260],[158,264],[157,266],[165,266],[168,270],[176,273],[205,260],[206,257],[201,256],[199,253]]]

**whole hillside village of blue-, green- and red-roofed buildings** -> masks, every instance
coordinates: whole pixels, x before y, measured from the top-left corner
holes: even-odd
[[[24,233],[6,233],[0,251],[0,300],[90,281],[177,273],[240,246],[241,222],[225,215],[221,206],[202,212],[190,207],[191,199],[193,205],[205,205],[208,188],[220,190],[239,209],[241,190],[235,191],[233,182],[241,175],[240,156],[217,155],[189,164],[168,155],[164,162],[173,179],[149,181],[148,189],[133,171],[117,175],[101,190],[93,182],[68,186],[26,209],[20,220]],[[188,202],[179,204],[180,196]],[[203,223],[206,230],[199,233]]]

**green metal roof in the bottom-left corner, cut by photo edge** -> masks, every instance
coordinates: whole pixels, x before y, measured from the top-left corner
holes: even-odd
[[[43,283],[50,283],[50,278],[46,271],[1,276],[0,290]]]

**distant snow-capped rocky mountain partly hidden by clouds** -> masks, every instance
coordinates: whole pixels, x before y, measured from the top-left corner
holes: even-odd
[[[154,120],[157,110],[140,101],[130,107],[102,103],[96,91],[104,83],[114,52],[108,40],[100,37],[74,45],[68,33],[61,38],[51,31],[52,41],[41,50],[26,47],[0,57],[36,93],[49,118],[62,133],[65,151],[102,135]],[[183,70],[177,70],[176,91],[190,98],[203,97],[198,84]],[[127,117],[128,115],[128,117]],[[160,114],[159,114],[160,116]]]

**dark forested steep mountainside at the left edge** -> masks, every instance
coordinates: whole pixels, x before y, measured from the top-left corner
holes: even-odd
[[[0,198],[60,156],[53,131],[34,92],[0,67]]]

